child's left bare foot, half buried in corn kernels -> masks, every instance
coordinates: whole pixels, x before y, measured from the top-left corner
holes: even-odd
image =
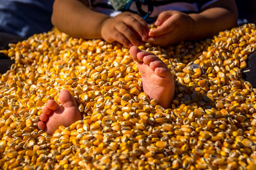
[[[60,125],[67,127],[82,118],[76,101],[68,90],[61,90],[59,99],[62,107],[56,101],[49,100],[40,115],[41,121],[37,124],[38,128],[47,134],[52,135]]]

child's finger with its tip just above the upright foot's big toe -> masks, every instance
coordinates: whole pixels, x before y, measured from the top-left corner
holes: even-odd
[[[124,22],[121,22],[122,24],[116,25],[116,31],[120,32],[125,38],[127,38],[132,45],[138,46],[140,44],[140,41],[136,38],[132,30],[124,24]]]

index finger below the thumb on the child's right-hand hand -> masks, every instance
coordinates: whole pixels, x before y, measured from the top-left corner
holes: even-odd
[[[175,18],[168,18],[162,25],[148,32],[149,36],[161,36],[163,34],[167,34],[168,32],[172,32],[175,29]]]

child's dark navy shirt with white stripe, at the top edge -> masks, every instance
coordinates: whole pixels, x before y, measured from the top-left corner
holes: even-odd
[[[130,11],[145,17],[148,23],[152,23],[163,11],[176,10],[184,13],[200,13],[200,11],[216,3],[216,1],[221,0],[147,0],[146,2],[149,3],[142,3],[141,0],[131,0],[129,8],[121,11],[114,10],[108,0],[91,0],[89,3],[92,10],[104,13],[110,17],[115,17],[115,15],[122,13],[122,11]]]

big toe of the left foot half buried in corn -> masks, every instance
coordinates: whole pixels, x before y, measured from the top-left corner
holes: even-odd
[[[61,90],[59,99],[63,108],[77,107],[74,97],[72,97],[68,90]]]

